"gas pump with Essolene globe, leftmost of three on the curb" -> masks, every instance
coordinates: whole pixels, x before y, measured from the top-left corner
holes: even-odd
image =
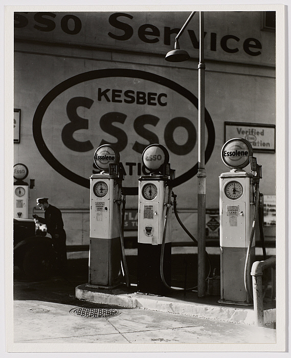
[[[90,246],[88,287],[113,288],[121,284],[122,271],[129,286],[121,224],[122,181],[119,152],[101,145],[94,163],[101,170],[90,177]]]

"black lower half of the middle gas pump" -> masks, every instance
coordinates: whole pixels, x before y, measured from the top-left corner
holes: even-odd
[[[165,244],[164,277],[171,285],[171,242]],[[165,295],[169,289],[164,285],[160,274],[162,245],[138,243],[138,292]]]

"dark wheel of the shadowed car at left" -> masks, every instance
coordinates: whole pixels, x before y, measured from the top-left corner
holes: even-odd
[[[28,279],[47,279],[56,267],[55,252],[51,247],[45,245],[31,246],[24,255],[22,266]]]

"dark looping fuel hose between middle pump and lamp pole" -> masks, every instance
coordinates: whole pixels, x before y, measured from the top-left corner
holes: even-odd
[[[168,196],[168,203],[166,204],[167,206],[167,209],[166,209],[166,216],[165,216],[165,223],[164,223],[164,233],[163,233],[163,241],[162,241],[162,249],[161,249],[161,260],[160,260],[160,274],[161,274],[161,279],[162,279],[162,282],[163,284],[170,290],[172,291],[194,291],[195,288],[197,288],[197,286],[195,287],[191,287],[191,288],[173,288],[171,286],[169,286],[165,280],[165,276],[164,276],[164,253],[165,253],[165,241],[166,241],[166,233],[167,233],[167,224],[168,224],[168,217],[169,217],[169,210],[170,210],[170,207],[171,207],[171,196],[173,195],[174,197],[174,212],[175,212],[175,216],[178,220],[178,222],[180,223],[180,225],[182,226],[182,228],[184,229],[184,231],[190,236],[190,238],[195,242],[197,243],[197,240],[194,238],[193,235],[191,235],[191,233],[186,229],[186,227],[184,226],[183,222],[181,221],[180,217],[178,217],[178,214],[177,214],[177,211],[176,211],[176,195],[174,193],[172,193],[172,188],[169,187],[169,196]],[[206,253],[207,254],[207,253]],[[209,271],[209,274],[208,274],[208,277],[210,275],[210,272],[211,272],[211,261],[210,261],[210,258],[207,254],[207,257],[208,257],[208,260],[209,260],[209,263],[210,263],[210,271]],[[208,278],[207,277],[207,278]]]

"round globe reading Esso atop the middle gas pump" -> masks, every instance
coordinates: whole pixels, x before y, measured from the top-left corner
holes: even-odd
[[[169,152],[161,144],[151,144],[143,151],[142,161],[150,172],[156,172],[169,163]]]

